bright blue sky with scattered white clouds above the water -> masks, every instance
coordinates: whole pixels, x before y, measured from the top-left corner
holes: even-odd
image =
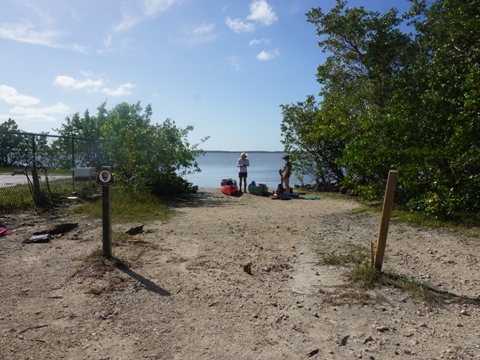
[[[328,54],[305,14],[335,0],[2,0],[0,123],[58,134],[106,102],[192,125],[192,144],[282,151],[280,105],[317,96]],[[408,0],[350,0],[386,12]]]

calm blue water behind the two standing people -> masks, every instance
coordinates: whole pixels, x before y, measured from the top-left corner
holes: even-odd
[[[187,175],[188,181],[199,188],[217,188],[223,178],[232,178],[238,182],[237,160],[239,153],[208,152],[197,159],[202,172]],[[248,168],[247,184],[253,181],[266,183],[269,188],[276,188],[280,183],[278,169],[283,167],[283,153],[248,153],[250,166]],[[300,184],[294,175],[290,177],[290,185]]]

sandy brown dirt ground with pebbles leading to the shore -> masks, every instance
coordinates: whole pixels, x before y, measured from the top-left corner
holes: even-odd
[[[0,358],[480,359],[479,229],[390,224],[382,270],[461,299],[366,291],[323,262],[376,242],[380,214],[358,206],[202,190],[137,235],[113,224],[116,267],[101,265],[101,219],[3,216]]]

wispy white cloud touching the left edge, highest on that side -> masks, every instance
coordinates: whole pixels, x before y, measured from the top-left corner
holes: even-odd
[[[0,38],[20,41],[27,44],[60,47],[56,31],[38,31],[30,24],[1,24]]]

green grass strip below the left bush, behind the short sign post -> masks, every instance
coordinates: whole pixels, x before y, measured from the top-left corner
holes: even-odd
[[[150,194],[131,195],[112,189],[112,222],[140,222],[149,223],[155,220],[165,221],[174,215],[160,198]],[[102,200],[87,203],[76,209],[76,212],[92,218],[102,216]]]

